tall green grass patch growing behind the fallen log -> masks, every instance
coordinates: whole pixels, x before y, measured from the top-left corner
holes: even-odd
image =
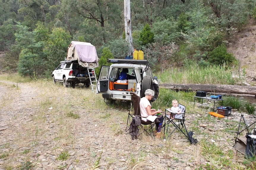
[[[158,75],[161,82],[181,84],[226,84],[233,85],[232,68],[226,65],[198,67],[196,62],[181,68],[170,68]]]

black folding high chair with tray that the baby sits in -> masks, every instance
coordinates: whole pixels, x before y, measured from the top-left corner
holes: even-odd
[[[170,135],[177,129],[179,131],[181,131],[187,138],[188,138],[188,132],[187,132],[187,128],[185,125],[185,112],[186,112],[186,107],[183,106],[182,104],[178,104],[178,107],[181,109],[181,114],[182,114],[182,118],[181,119],[171,119],[169,114],[171,114],[171,117],[174,117],[174,115],[176,113],[172,113],[171,110],[169,109],[165,109],[165,124],[164,124],[164,140],[168,137],[170,137]],[[172,132],[170,134],[168,134],[168,130],[169,130],[169,125],[173,124],[174,129],[172,130]]]

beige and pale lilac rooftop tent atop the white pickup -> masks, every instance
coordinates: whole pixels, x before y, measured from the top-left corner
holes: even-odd
[[[95,68],[99,66],[95,46],[91,43],[71,41],[67,50],[67,60],[78,61],[83,67]]]

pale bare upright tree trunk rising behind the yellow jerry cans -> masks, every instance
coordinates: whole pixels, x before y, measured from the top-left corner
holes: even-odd
[[[128,44],[127,55],[132,55],[134,48],[133,48],[133,42],[132,42],[130,0],[124,0],[124,30],[125,30],[125,40]]]

